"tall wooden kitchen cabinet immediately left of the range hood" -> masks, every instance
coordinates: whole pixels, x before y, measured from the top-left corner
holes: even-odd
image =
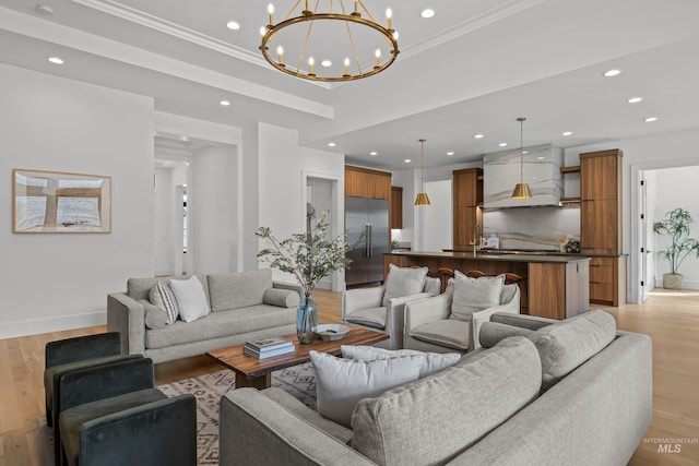
[[[453,171],[453,249],[473,248],[483,231],[483,170]]]

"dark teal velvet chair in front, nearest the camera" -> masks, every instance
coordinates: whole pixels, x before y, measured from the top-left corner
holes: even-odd
[[[150,358],[71,371],[59,396],[61,465],[197,464],[197,401],[155,389]]]

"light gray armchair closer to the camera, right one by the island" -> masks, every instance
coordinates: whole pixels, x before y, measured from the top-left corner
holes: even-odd
[[[481,346],[478,343],[481,326],[490,320],[490,315],[496,312],[520,313],[520,288],[517,284],[501,285],[499,300],[496,296],[498,303],[485,309],[481,306],[479,310],[470,312],[466,316],[453,306],[457,286],[459,286],[459,278],[455,280],[451,278],[443,294],[411,301],[405,306],[403,335],[405,348],[431,353],[472,351]],[[484,302],[478,298],[474,297],[474,301]],[[464,300],[463,294],[459,296],[459,300]]]

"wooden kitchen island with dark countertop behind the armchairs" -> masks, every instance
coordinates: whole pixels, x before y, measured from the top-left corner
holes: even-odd
[[[499,254],[489,252],[408,251],[384,254],[384,276],[389,264],[401,267],[427,266],[433,276],[441,267],[487,275],[511,272],[525,277],[521,312],[566,319],[590,309],[590,258],[566,254]]]

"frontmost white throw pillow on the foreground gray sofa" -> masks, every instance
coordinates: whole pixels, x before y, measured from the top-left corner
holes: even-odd
[[[387,390],[417,380],[424,356],[404,356],[376,361],[342,359],[310,351],[316,369],[318,413],[351,428],[352,411],[363,398],[379,396]]]

